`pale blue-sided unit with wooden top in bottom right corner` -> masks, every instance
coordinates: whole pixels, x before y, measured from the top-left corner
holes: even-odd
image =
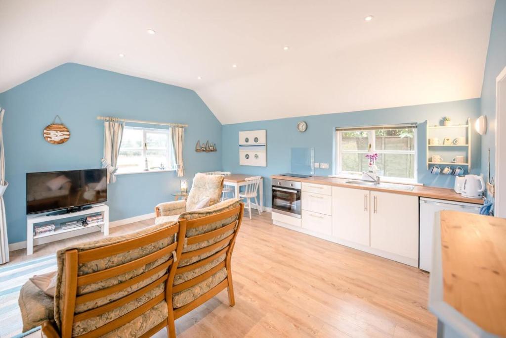
[[[506,219],[458,211],[439,218],[429,295],[438,337],[506,337]]]

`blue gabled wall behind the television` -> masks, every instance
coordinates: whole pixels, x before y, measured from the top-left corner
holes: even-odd
[[[26,240],[27,172],[100,167],[104,128],[97,116],[187,123],[185,178],[191,182],[195,172],[221,169],[222,125],[192,90],[67,63],[1,93],[0,105],[6,109],[9,243]],[[42,137],[56,115],[71,133],[59,145]],[[216,142],[218,152],[196,153],[197,139]],[[180,180],[175,172],[117,177],[108,191],[111,220],[153,212],[156,204],[173,199]]]

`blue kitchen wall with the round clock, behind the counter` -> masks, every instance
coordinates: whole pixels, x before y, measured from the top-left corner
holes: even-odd
[[[329,169],[315,169],[320,176],[333,173],[334,128],[348,126],[370,126],[418,122],[418,182],[431,186],[453,187],[451,175],[433,175],[427,170],[426,162],[426,120],[431,124],[443,116],[450,116],[455,124],[465,123],[467,118],[475,120],[480,116],[480,99],[424,104],[397,108],[374,109],[340,114],[314,115],[259,122],[247,122],[223,126],[223,170],[264,176],[264,205],[271,205],[270,175],[290,171],[289,153],[291,147],[314,147],[315,162],[328,163]],[[308,123],[308,130],[297,130],[299,121]],[[239,131],[267,130],[267,167],[239,165]],[[481,168],[480,136],[473,129],[472,172]]]

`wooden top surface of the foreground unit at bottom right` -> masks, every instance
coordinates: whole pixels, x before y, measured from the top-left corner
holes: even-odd
[[[440,217],[444,302],[506,337],[506,219],[458,211]]]

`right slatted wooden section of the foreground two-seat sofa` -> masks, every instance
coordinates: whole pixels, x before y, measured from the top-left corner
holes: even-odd
[[[177,319],[228,289],[230,306],[234,306],[231,258],[241,226],[244,203],[229,199],[201,210],[186,212],[185,246],[178,261],[169,318]],[[169,325],[174,338],[174,325]]]

